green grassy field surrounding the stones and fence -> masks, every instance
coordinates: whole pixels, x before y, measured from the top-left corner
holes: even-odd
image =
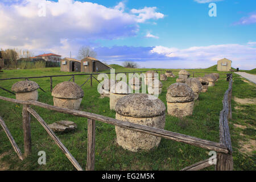
[[[148,69],[127,69],[111,65],[116,68],[116,72],[122,71],[143,71]],[[177,75],[177,69],[174,69]],[[216,65],[208,69],[188,69],[193,72],[217,72]],[[69,75],[70,73],[60,72],[60,68],[44,69],[24,69],[24,70],[4,70],[0,73],[0,78],[27,77],[45,75]],[[195,77],[204,76],[204,73],[195,73]],[[222,99],[224,92],[228,89],[228,82],[225,75],[221,75],[216,86],[210,87],[207,93],[201,93],[195,103],[193,115],[178,119],[166,113],[166,130],[176,133],[187,134],[214,142],[219,141],[218,117],[222,110]],[[70,77],[54,77],[53,87],[62,81],[68,81]],[[88,76],[76,76],[75,82],[79,85]],[[53,105],[50,93],[49,78],[35,78],[46,93],[39,90],[38,101]],[[168,78],[163,81],[163,92],[159,99],[166,104],[166,92],[168,86],[175,83],[176,78]],[[11,86],[18,80],[0,81],[0,86],[11,89]],[[93,80],[93,87],[89,82],[82,86],[85,96],[81,102],[80,110],[89,111],[96,114],[115,117],[115,112],[109,109],[109,98],[100,98],[97,92],[96,80]],[[15,98],[13,94],[0,90],[0,95]],[[242,78],[234,74],[233,96],[240,98],[256,98],[255,85],[246,83]],[[239,106],[240,109],[234,109]],[[85,118],[74,117],[67,114],[56,113],[40,107],[32,106],[38,114],[48,123],[60,120],[69,120],[77,123],[77,130],[74,133],[57,134],[61,142],[68,148],[76,158],[82,168],[86,165],[87,149],[87,121]],[[233,119],[230,121],[230,133],[232,134],[232,144],[234,150],[235,170],[255,170],[255,151],[241,152],[241,145],[248,140],[255,140],[255,105],[240,105],[232,100]],[[22,106],[10,102],[0,101],[0,115],[9,127],[16,143],[23,148],[22,131]],[[248,129],[240,129],[233,125],[245,125]],[[243,135],[240,135],[242,133]],[[0,129],[0,170],[74,170],[75,168],[65,157],[63,152],[56,146],[48,136],[43,127],[31,119],[32,155],[20,161],[16,156],[5,132]],[[130,152],[123,150],[115,142],[114,126],[101,122],[96,122],[96,170],[179,170],[191,164],[209,158],[208,150],[189,146],[167,139],[162,139],[156,150],[148,152]],[[241,143],[242,142],[242,143]],[[47,156],[46,165],[38,164],[38,152],[45,151]],[[213,170],[209,167],[205,170]]]

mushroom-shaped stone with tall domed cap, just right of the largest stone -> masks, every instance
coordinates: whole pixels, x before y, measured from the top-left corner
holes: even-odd
[[[182,83],[175,83],[168,87],[166,94],[167,112],[175,117],[192,115],[194,106],[193,90]]]

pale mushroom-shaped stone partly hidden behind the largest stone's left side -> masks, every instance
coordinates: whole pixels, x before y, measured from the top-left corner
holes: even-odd
[[[128,84],[126,84],[126,82],[124,81],[116,82],[110,90],[110,97],[109,97],[110,109],[114,110],[115,105],[117,104],[117,101],[120,98],[125,97],[127,94],[131,94],[131,93],[132,93],[132,89]]]

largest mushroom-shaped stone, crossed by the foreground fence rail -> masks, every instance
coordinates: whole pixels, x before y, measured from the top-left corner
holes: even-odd
[[[115,106],[115,119],[138,125],[164,129],[166,106],[158,98],[135,93],[122,97]],[[133,152],[158,147],[161,138],[115,126],[117,143]]]

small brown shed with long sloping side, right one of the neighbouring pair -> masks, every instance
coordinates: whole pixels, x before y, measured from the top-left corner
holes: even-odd
[[[92,73],[112,69],[108,65],[101,63],[101,61],[94,57],[86,57],[81,60],[81,72]]]

